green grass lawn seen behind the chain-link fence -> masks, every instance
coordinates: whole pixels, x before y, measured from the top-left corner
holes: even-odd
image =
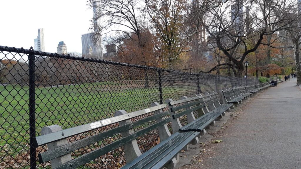
[[[113,82],[112,82],[113,83]],[[36,88],[36,132],[58,124],[70,128],[113,116],[116,110],[128,112],[159,102],[159,88],[134,88],[108,82]],[[190,93],[185,86],[163,87],[163,96],[178,99]],[[29,149],[29,88],[0,86],[0,159]],[[163,99],[166,99],[165,97]],[[163,100],[164,101],[164,100]],[[24,149],[25,147],[25,149]]]

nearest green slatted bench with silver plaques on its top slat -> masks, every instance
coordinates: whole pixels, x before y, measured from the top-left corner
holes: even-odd
[[[88,163],[95,158],[100,157],[116,148],[124,147],[126,165],[123,169],[131,168],[173,168],[176,163],[176,155],[185,148],[192,140],[199,135],[198,132],[174,132],[170,134],[167,123],[171,121],[169,111],[163,111],[166,104],[152,103],[150,108],[127,113],[125,110],[115,112],[114,117],[103,119],[89,124],[83,124],[77,127],[62,130],[59,125],[52,125],[42,129],[42,135],[36,137],[36,146],[47,144],[48,150],[40,153],[39,161],[44,163],[51,162],[51,167],[55,169],[76,168],[85,163]],[[150,113],[153,113],[150,115]],[[147,116],[149,115],[149,116]],[[167,117],[166,117],[167,116]],[[139,117],[139,118],[138,118]],[[131,121],[133,118],[138,118],[136,121]],[[149,121],[155,121],[154,124],[144,126]],[[117,125],[118,123],[118,125]],[[115,128],[103,131],[90,137],[76,140],[68,143],[68,137],[72,137],[81,133],[92,131],[108,125],[114,124]],[[113,126],[114,126],[113,125]],[[141,130],[134,131],[138,126],[143,126]],[[143,154],[138,148],[136,138],[158,129],[160,143],[149,149]],[[95,149],[92,152],[86,153],[80,157],[71,158],[71,153],[82,147],[100,142],[113,135],[121,133],[122,138],[114,140],[105,146]]]

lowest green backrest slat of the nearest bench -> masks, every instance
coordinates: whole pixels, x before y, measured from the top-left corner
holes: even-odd
[[[66,169],[66,168],[73,169],[73,168],[79,167],[82,164],[85,164],[85,163],[87,163],[89,161],[92,161],[95,158],[98,158],[101,155],[104,155],[105,153],[110,152],[110,151],[112,151],[112,150],[114,150],[114,149],[116,149],[116,148],[124,145],[125,143],[128,143],[128,142],[136,139],[137,137],[140,137],[143,134],[148,133],[148,132],[156,129],[159,125],[163,125],[163,124],[168,123],[169,121],[170,121],[170,118],[166,118],[166,119],[164,119],[164,120],[162,120],[162,121],[160,121],[158,123],[155,123],[155,124],[152,124],[152,125],[148,126],[147,128],[141,129],[140,131],[137,131],[137,132],[135,132],[135,133],[133,133],[133,134],[127,136],[127,137],[124,137],[124,138],[122,138],[120,140],[117,140],[117,141],[115,141],[113,143],[110,143],[110,144],[108,144],[106,146],[103,146],[103,147],[101,147],[99,149],[96,149],[96,150],[94,150],[92,152],[89,152],[89,153],[87,153],[85,155],[82,155],[82,156],[80,156],[78,158],[75,158],[75,159],[73,159],[71,161],[68,161],[67,163],[65,163],[65,164],[63,164],[63,165],[61,165],[61,166],[59,166],[59,167],[57,167],[55,169]]]

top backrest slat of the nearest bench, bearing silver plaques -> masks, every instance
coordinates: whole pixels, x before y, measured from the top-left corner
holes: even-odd
[[[81,133],[84,133],[84,132],[87,132],[87,131],[91,131],[91,130],[94,130],[94,129],[97,129],[97,128],[101,128],[101,127],[110,125],[112,123],[117,123],[119,121],[127,120],[127,119],[130,119],[130,118],[133,118],[133,117],[137,117],[139,115],[154,112],[154,111],[163,109],[165,107],[166,107],[166,104],[161,104],[161,105],[158,105],[158,106],[150,107],[148,109],[142,109],[142,110],[138,110],[138,111],[135,111],[135,112],[131,112],[131,113],[128,113],[128,114],[125,114],[125,115],[119,115],[119,116],[116,116],[116,117],[102,119],[100,121],[96,121],[96,122],[93,122],[93,123],[83,124],[83,125],[76,126],[76,127],[73,127],[73,128],[68,128],[68,129],[65,129],[65,130],[62,130],[62,131],[57,131],[57,132],[54,132],[54,133],[45,134],[45,135],[36,137],[34,144],[35,144],[35,146],[41,146],[41,145],[44,145],[44,144],[47,144],[47,143],[51,143],[51,142],[54,142],[54,141],[57,141],[57,140],[61,140],[61,139],[76,135],[76,134],[81,134]],[[110,123],[103,124],[103,122],[101,122],[101,121],[104,121],[104,120],[110,121]],[[98,127],[92,128],[91,126],[95,123],[99,123],[100,125]]]

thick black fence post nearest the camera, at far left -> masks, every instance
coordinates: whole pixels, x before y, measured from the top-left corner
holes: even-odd
[[[31,47],[32,51],[33,48]],[[30,145],[30,169],[36,169],[36,147],[34,138],[36,137],[36,94],[35,94],[35,55],[31,52],[28,56],[29,66],[29,145]]]

